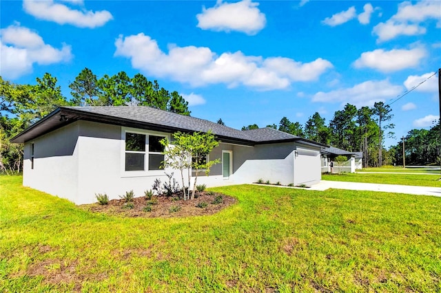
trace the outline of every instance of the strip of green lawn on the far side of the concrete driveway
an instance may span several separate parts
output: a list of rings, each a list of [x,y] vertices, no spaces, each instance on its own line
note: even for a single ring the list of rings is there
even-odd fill
[[[441,187],[439,180],[441,175],[426,174],[387,174],[387,173],[340,173],[322,174],[322,180],[344,181],[344,182],[364,182],[380,184],[399,184],[412,186]]]

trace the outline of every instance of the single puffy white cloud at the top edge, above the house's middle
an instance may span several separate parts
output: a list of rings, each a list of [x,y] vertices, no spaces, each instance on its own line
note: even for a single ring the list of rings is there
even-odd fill
[[[265,28],[267,22],[265,14],[257,8],[259,4],[251,0],[236,3],[223,3],[221,0],[213,8],[203,8],[203,12],[196,15],[198,28],[203,30],[225,31],[232,30],[257,34]]]

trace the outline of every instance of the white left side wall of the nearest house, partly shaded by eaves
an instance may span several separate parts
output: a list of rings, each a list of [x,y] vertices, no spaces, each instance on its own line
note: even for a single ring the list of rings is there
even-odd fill
[[[23,156],[23,186],[76,202],[79,170],[79,123],[26,142]],[[34,143],[34,169],[30,148]]]

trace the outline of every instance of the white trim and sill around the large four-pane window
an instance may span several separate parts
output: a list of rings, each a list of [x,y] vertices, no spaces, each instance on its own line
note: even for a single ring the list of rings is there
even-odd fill
[[[125,133],[138,133],[145,135],[145,151],[126,151],[125,150]],[[170,140],[170,133],[150,131],[132,127],[121,127],[121,177],[147,177],[147,176],[165,176],[165,169],[160,170],[148,170],[149,167],[149,154],[161,154],[158,152],[149,152],[149,135],[162,136]],[[144,170],[143,171],[125,171],[125,153],[143,153],[144,157]]]

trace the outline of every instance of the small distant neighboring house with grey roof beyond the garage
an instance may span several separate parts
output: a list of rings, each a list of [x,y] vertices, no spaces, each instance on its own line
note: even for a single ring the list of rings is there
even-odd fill
[[[354,173],[356,169],[362,169],[362,152],[350,152],[345,151],[344,149],[338,149],[334,146],[328,146],[325,149],[322,149],[322,173],[330,173],[331,166],[330,162],[334,162],[334,173],[338,172],[347,172]],[[336,157],[338,155],[345,155],[347,161],[342,164],[342,166],[338,166],[336,163]]]

